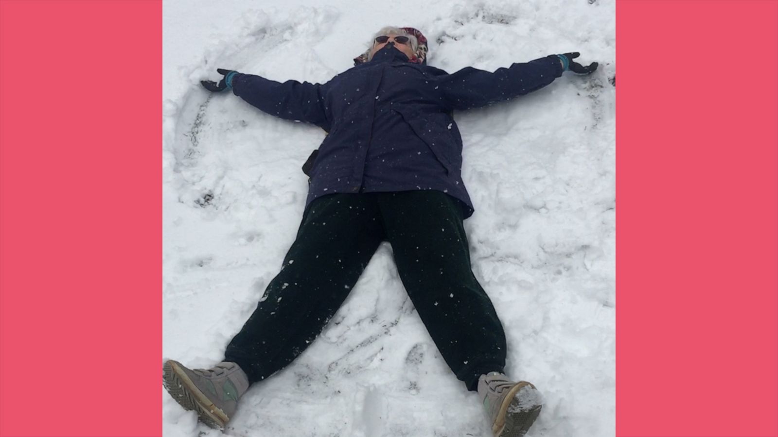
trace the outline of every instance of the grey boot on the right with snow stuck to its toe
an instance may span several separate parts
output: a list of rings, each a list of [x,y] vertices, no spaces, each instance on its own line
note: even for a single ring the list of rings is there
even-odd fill
[[[527,381],[514,383],[499,372],[478,379],[478,397],[492,422],[495,437],[520,437],[527,433],[542,407],[538,390]]]

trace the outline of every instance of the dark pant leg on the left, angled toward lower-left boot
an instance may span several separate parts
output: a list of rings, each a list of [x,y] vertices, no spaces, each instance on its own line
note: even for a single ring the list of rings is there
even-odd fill
[[[270,282],[225,361],[255,383],[292,362],[342,305],[384,239],[372,194],[332,194],[311,203],[280,273]]]

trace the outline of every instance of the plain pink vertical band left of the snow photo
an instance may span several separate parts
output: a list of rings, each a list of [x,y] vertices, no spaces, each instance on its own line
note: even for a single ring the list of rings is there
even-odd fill
[[[0,0],[0,435],[162,430],[162,2]]]

